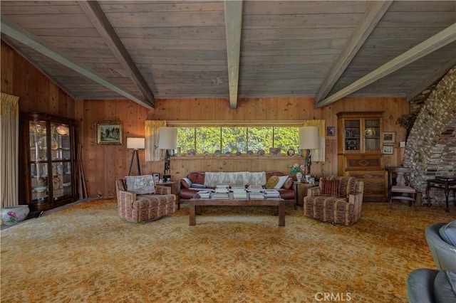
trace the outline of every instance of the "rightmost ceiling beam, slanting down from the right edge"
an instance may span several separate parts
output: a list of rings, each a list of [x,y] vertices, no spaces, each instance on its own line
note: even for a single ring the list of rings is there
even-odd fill
[[[374,83],[376,80],[381,79],[390,73],[399,70],[400,68],[403,68],[405,65],[408,65],[415,60],[423,58],[425,55],[428,55],[434,50],[442,48],[443,46],[446,46],[448,43],[452,43],[453,41],[456,41],[456,23],[453,23],[451,26],[448,26],[444,30],[426,39],[417,46],[410,48],[410,50],[407,50],[405,53],[398,55],[393,60],[390,60],[387,63],[381,65],[379,68],[373,70],[371,73],[368,73],[363,78],[356,80],[351,85],[348,85],[338,92],[335,92],[325,100],[318,102],[316,104],[316,107],[320,108],[341,100],[341,98],[350,95],[352,92],[361,90],[361,88]]]

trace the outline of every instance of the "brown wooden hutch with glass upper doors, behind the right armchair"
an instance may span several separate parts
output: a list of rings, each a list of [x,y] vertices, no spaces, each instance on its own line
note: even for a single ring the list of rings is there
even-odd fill
[[[364,181],[363,201],[387,201],[388,174],[383,165],[383,112],[337,114],[338,174]]]

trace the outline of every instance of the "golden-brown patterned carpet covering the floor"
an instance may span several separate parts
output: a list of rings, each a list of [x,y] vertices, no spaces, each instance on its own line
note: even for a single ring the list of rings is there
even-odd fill
[[[435,268],[427,225],[456,208],[364,203],[351,227],[286,207],[188,207],[135,224],[97,199],[1,230],[1,302],[407,302],[405,280]]]

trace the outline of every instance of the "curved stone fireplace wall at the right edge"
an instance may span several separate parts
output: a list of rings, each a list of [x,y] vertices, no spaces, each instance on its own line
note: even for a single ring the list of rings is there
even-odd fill
[[[403,165],[415,169],[413,183],[423,193],[424,203],[427,179],[456,177],[456,66],[440,80],[421,107],[407,139]],[[430,198],[434,205],[445,204],[445,193],[440,189],[431,188]]]

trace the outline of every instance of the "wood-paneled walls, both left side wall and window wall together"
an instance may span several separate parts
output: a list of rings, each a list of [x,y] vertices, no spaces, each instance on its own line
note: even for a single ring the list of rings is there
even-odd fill
[[[347,97],[332,105],[316,109],[313,97],[241,98],[236,110],[227,99],[199,98],[157,100],[155,110],[147,110],[130,100],[73,100],[55,83],[48,80],[31,63],[1,42],[1,91],[18,95],[21,112],[45,112],[76,119],[78,140],[83,144],[83,166],[89,196],[115,196],[115,179],[128,174],[132,151],[127,137],[143,137],[146,119],[165,120],[304,120],[325,119],[326,126],[336,126],[337,112],[383,111],[383,130],[396,132],[396,145],[405,139],[405,129],[395,124],[407,114],[409,104],[403,98]],[[98,145],[96,124],[106,120],[123,122],[123,145]],[[163,173],[163,162],[145,162],[140,151],[142,174]],[[385,156],[385,165],[398,165],[400,149]],[[171,174],[178,180],[190,171],[272,171],[288,173],[289,165],[304,163],[294,157],[268,156],[182,156],[173,157]],[[135,167],[133,167],[135,173]],[[336,137],[326,139],[326,161],[312,164],[317,176],[337,174]]]

